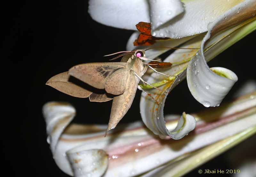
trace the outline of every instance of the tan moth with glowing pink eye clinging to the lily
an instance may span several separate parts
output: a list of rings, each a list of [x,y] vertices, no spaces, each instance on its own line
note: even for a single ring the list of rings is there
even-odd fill
[[[71,96],[89,97],[90,101],[93,102],[105,102],[113,99],[108,128],[105,133],[106,136],[107,132],[114,129],[130,109],[137,88],[147,93],[138,85],[139,81],[156,88],[141,78],[148,67],[153,69],[156,73],[163,74],[153,68],[160,66],[156,63],[158,60],[151,60],[153,62],[149,64],[144,62],[150,60],[146,58],[145,51],[125,51],[126,53],[118,56],[123,56],[121,62],[85,63],[76,65],[71,67],[68,72],[53,76],[47,81],[46,85],[50,85]],[[168,74],[164,75],[172,76]],[[70,76],[89,84],[98,91],[94,91],[91,88],[83,88],[70,82]],[[156,89],[167,92],[160,88]],[[99,92],[99,90],[101,91]],[[150,96],[150,94],[148,95]],[[150,97],[153,98],[152,96]],[[156,100],[154,99],[154,101]]]

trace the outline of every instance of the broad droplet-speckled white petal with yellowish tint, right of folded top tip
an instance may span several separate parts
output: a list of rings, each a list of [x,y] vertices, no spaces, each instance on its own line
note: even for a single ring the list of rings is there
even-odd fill
[[[183,38],[207,31],[207,25],[216,20],[223,12],[241,3],[239,1],[222,0],[188,0],[184,3],[184,12],[168,23],[151,30],[152,36]]]

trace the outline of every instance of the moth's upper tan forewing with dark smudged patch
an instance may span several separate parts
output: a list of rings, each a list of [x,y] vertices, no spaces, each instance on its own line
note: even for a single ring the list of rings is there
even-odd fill
[[[68,74],[99,89],[103,89],[108,77],[125,68],[125,62],[85,63],[69,69]]]

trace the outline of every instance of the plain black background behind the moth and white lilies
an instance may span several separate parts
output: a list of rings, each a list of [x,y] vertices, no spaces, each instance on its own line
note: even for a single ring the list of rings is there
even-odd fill
[[[5,32],[2,37],[1,119],[4,163],[11,176],[68,176],[52,159],[46,142],[42,106],[49,101],[73,104],[77,116],[73,122],[107,124],[111,104],[89,102],[89,99],[65,95],[45,83],[52,76],[68,71],[74,65],[106,62],[103,55],[126,50],[133,31],[101,25],[92,20],[87,1],[19,1],[3,5]],[[227,95],[230,100],[247,79],[255,79],[255,32],[228,48],[208,64],[234,71],[239,80]],[[186,101],[184,102],[184,99]],[[131,109],[120,123],[140,120],[140,91]],[[224,102],[223,101],[223,102]],[[186,81],[176,87],[165,105],[165,113],[181,114],[205,109],[191,96]],[[166,108],[166,107],[165,107]],[[226,169],[221,155],[201,169]],[[210,168],[210,169],[212,169]],[[199,168],[200,169],[200,168]],[[198,175],[198,170],[190,174]],[[13,175],[12,175],[13,174]]]

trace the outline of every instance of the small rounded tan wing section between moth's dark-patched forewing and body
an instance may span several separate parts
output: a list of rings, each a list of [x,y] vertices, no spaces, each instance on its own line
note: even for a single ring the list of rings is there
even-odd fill
[[[129,74],[130,70],[126,68],[119,69],[111,74],[105,83],[106,92],[113,95],[123,94]]]

